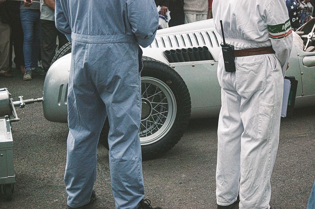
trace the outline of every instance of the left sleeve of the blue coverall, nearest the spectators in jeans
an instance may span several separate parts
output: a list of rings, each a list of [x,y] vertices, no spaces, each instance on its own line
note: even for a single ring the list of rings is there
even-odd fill
[[[65,15],[66,10],[64,5],[62,5],[61,0],[56,0],[55,7],[55,25],[56,28],[63,34],[66,35],[68,41],[71,42],[71,27],[69,24],[69,19]]]

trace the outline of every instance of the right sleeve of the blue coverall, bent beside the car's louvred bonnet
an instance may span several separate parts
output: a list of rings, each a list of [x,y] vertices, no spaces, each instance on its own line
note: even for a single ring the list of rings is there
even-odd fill
[[[128,19],[137,43],[149,46],[157,32],[158,13],[153,0],[127,0]]]

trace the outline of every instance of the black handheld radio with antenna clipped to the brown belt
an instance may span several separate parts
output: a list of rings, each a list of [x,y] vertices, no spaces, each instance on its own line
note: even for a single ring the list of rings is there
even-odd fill
[[[235,72],[235,62],[234,62],[234,46],[227,44],[225,42],[225,38],[224,38],[224,31],[223,31],[223,25],[222,25],[222,20],[220,20],[221,23],[221,31],[222,31],[222,38],[223,38],[223,42],[220,44],[222,47],[222,54],[223,54],[223,60],[224,60],[224,67],[225,67],[225,71],[226,72]]]

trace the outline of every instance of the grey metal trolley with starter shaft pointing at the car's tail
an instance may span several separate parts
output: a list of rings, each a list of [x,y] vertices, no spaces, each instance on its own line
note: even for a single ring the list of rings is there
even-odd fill
[[[15,189],[11,123],[20,120],[15,107],[23,108],[26,104],[43,102],[43,97],[27,100],[24,100],[23,96],[19,98],[19,101],[13,102],[8,89],[0,89],[0,193],[4,194],[7,200],[12,199]]]

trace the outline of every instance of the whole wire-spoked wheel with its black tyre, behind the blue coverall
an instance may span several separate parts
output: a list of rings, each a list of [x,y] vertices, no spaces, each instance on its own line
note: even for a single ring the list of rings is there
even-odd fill
[[[180,75],[165,63],[142,57],[141,123],[139,136],[142,159],[157,158],[174,147],[188,127],[191,100]],[[108,146],[108,118],[100,143]]]

